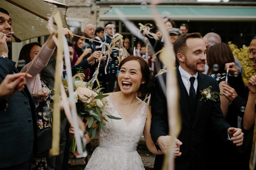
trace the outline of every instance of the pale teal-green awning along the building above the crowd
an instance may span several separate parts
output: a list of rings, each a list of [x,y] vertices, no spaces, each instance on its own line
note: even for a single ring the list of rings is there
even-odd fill
[[[110,6],[100,10],[100,20],[120,20],[120,12],[127,20],[153,20],[152,6]],[[256,21],[256,7],[236,6],[156,6],[158,13],[180,21]]]

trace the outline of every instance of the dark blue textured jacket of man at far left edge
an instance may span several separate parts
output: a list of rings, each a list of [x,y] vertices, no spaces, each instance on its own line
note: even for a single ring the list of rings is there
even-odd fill
[[[18,73],[15,62],[0,57],[0,83],[13,72]],[[7,98],[7,103],[7,109],[0,110],[0,168],[28,161],[37,146],[35,102],[27,86]]]

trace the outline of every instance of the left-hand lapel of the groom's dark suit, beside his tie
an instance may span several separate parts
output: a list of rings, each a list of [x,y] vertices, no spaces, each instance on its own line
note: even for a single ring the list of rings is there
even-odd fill
[[[184,114],[187,118],[187,121],[189,122],[189,125],[192,126],[192,123],[191,123],[191,120],[190,120],[190,115],[189,115],[189,108],[188,108],[188,105],[187,105],[186,91],[183,88],[184,84],[183,84],[182,79],[181,79],[181,73],[180,73],[178,67],[176,67],[176,70],[177,70],[177,77],[178,77],[178,85],[179,85],[179,89],[180,89],[181,111],[184,112]]]

